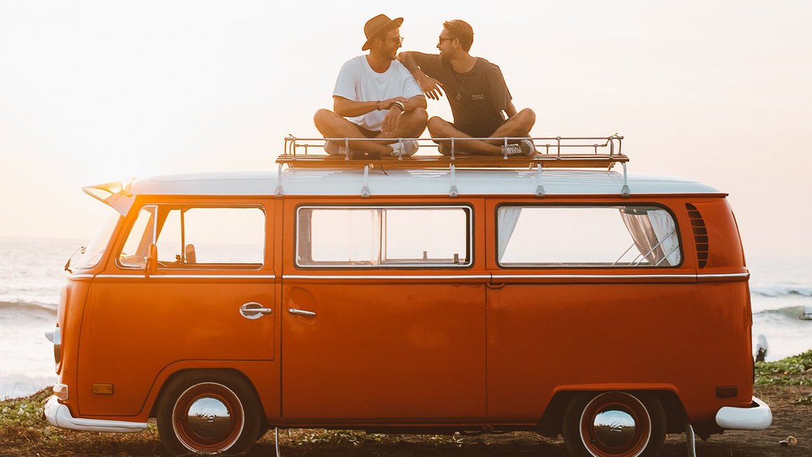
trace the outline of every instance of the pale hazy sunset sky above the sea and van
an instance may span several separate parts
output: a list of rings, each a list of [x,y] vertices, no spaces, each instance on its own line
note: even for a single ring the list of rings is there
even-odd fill
[[[748,254],[812,256],[807,0],[0,0],[0,236],[91,238],[110,209],[84,185],[275,170],[380,13],[402,50],[468,21],[533,136],[619,132],[630,172],[728,192]]]

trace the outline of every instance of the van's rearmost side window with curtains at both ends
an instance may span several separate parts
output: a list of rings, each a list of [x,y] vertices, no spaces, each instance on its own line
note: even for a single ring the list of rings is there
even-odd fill
[[[670,267],[682,261],[671,213],[654,206],[501,206],[499,265]]]

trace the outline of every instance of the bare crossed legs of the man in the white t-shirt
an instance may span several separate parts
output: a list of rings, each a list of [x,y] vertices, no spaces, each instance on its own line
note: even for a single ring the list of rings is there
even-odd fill
[[[391,133],[384,134],[381,131],[374,136],[368,136],[355,123],[351,123],[339,114],[330,110],[318,110],[313,116],[316,128],[325,138],[417,138],[425,130],[428,114],[422,108],[415,108],[400,116],[398,128]],[[390,153],[391,147],[388,144],[393,140],[371,140],[371,141],[349,141],[351,149],[356,151],[369,151],[378,153]]]

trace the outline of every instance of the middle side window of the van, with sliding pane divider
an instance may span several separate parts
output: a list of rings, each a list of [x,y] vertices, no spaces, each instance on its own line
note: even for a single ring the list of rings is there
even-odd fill
[[[296,265],[471,265],[468,207],[301,207]]]

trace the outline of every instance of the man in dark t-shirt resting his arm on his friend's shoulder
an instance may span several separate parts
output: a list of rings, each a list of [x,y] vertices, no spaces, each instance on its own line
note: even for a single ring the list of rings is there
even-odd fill
[[[451,104],[454,123],[436,116],[429,119],[431,136],[486,139],[455,140],[455,153],[535,153],[532,140],[504,145],[505,136],[529,136],[536,114],[529,108],[516,111],[502,71],[484,58],[469,54],[472,44],[473,28],[467,22],[455,19],[443,23],[437,44],[440,54],[414,51],[398,54],[398,60],[412,72],[425,95],[439,100],[444,90]],[[507,114],[507,119],[503,113]],[[437,142],[440,153],[451,153],[451,141]]]

